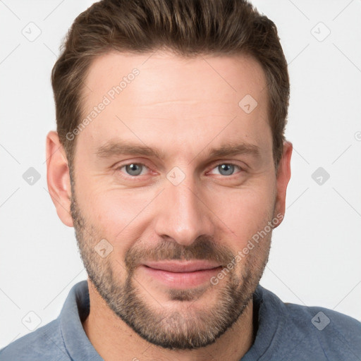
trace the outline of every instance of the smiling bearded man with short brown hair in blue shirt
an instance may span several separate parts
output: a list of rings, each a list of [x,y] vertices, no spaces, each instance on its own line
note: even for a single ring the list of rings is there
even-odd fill
[[[259,285],[285,212],[289,81],[242,0],[104,0],[53,69],[56,211],[88,280],[0,360],[361,360],[361,324]]]

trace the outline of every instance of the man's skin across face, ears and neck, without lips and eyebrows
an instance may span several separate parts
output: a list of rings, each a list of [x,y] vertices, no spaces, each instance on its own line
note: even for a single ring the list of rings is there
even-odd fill
[[[254,59],[149,55],[111,52],[92,63],[84,114],[133,68],[140,74],[77,135],[73,183],[57,133],[47,135],[49,192],[61,221],[75,228],[90,276],[83,327],[107,361],[240,360],[255,340],[252,294],[267,263],[271,231],[216,286],[207,281],[173,289],[140,264],[219,259],[225,267],[252,235],[284,214],[292,144],[284,143],[276,172],[266,78]],[[257,100],[250,114],[238,105],[246,94]],[[111,140],[163,154],[97,157]],[[259,154],[209,158],[209,149],[225,142],[257,146]],[[126,164],[145,167],[132,176]],[[221,164],[234,164],[233,173],[225,175]],[[167,178],[174,167],[185,176],[178,185]],[[94,251],[102,239],[113,247],[104,258]],[[135,297],[133,309],[127,295]],[[186,347],[187,333],[207,341],[195,337]]]

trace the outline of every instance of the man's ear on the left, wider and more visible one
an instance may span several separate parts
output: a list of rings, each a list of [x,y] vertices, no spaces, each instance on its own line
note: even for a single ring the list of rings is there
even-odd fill
[[[55,131],[51,131],[47,135],[47,183],[56,213],[63,224],[73,227],[68,161],[58,133]]]

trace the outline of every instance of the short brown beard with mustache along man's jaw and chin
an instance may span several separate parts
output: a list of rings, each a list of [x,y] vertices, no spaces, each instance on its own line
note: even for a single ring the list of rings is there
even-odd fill
[[[122,266],[117,259],[102,258],[95,252],[94,245],[103,237],[97,227],[87,224],[74,195],[71,198],[71,216],[80,257],[94,288],[133,331],[162,348],[192,350],[214,343],[243,314],[268,261],[271,233],[240,260],[243,262],[240,275],[236,274],[240,267],[233,267],[216,286],[209,282],[209,285],[197,288],[169,288],[166,291],[168,299],[175,302],[171,307],[164,307],[145,292],[134,276],[141,260],[204,259],[226,267],[235,257],[233,252],[205,236],[188,246],[165,239],[152,248],[136,242],[127,250],[125,266]],[[119,266],[121,271],[115,271]],[[125,281],[118,277],[121,274],[126,275]],[[202,295],[209,292],[216,295],[211,304],[207,304],[207,297],[204,297],[202,307],[197,305],[197,300],[202,301]],[[154,305],[145,296],[149,296]]]

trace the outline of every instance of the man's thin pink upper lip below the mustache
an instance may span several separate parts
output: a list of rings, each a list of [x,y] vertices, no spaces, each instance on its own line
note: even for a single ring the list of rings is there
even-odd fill
[[[162,271],[170,272],[193,272],[221,267],[220,264],[205,260],[144,262],[143,264],[152,269],[161,269]]]

